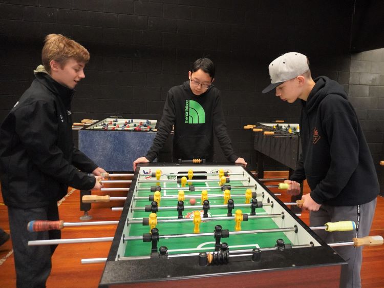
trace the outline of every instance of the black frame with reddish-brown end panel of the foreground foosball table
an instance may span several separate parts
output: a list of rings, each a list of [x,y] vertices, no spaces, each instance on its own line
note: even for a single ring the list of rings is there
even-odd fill
[[[228,163],[208,163],[206,166],[229,166]],[[176,166],[174,163],[148,163],[141,166]],[[180,166],[180,165],[177,165]],[[183,166],[183,164],[181,164]],[[200,166],[196,166],[197,168]],[[137,169],[139,171],[139,169]],[[245,169],[261,186],[269,191],[252,173]],[[134,175],[131,189],[136,187],[138,173]],[[99,287],[180,287],[225,285],[230,287],[276,287],[294,286],[338,287],[340,274],[347,269],[344,261],[334,250],[319,238],[307,225],[288,208],[286,213],[296,217],[301,225],[321,246],[286,249],[284,251],[263,251],[258,261],[248,257],[230,258],[229,263],[207,266],[199,265],[199,256],[155,257],[134,261],[118,261],[117,253],[126,225],[133,191],[128,193],[124,209],[106,260]],[[283,202],[273,193],[273,201]],[[123,256],[123,255],[122,255]]]

